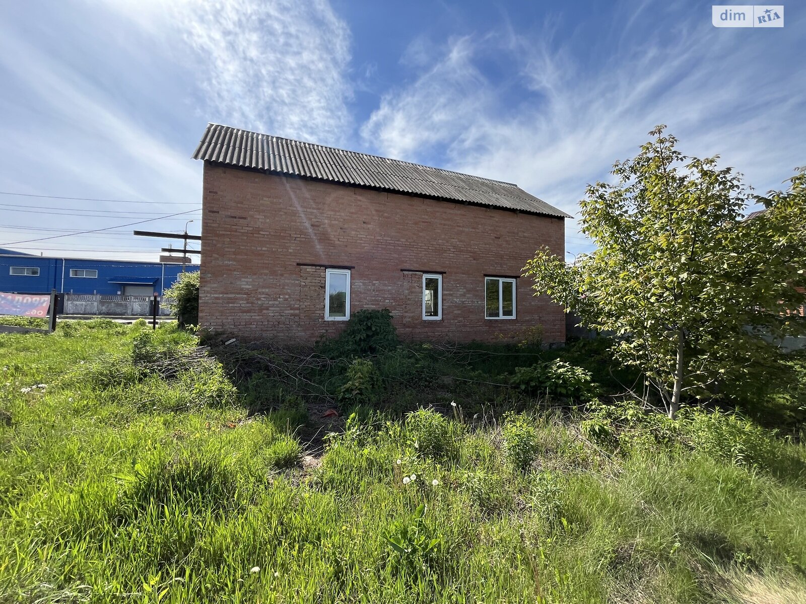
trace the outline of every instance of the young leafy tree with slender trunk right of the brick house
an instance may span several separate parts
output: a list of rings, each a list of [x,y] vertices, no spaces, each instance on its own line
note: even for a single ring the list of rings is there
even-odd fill
[[[567,265],[538,250],[524,270],[537,294],[615,333],[614,354],[645,372],[674,418],[683,393],[751,379],[778,338],[806,333],[790,316],[806,286],[806,171],[787,192],[752,197],[664,128],[614,165],[616,184],[588,186],[580,224],[596,251]],[[745,220],[752,199],[767,211]]]

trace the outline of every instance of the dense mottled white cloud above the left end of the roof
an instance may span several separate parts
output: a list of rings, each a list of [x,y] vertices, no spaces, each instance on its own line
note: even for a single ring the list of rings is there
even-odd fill
[[[208,121],[329,144],[350,133],[350,31],[326,0],[110,6],[142,27],[179,34],[193,52],[173,46],[193,66]]]

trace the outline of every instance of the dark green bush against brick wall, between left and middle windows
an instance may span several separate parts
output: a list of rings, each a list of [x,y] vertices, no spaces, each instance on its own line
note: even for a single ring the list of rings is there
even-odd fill
[[[365,357],[394,350],[399,344],[389,309],[364,308],[352,313],[338,336],[318,341],[317,350],[327,358]]]

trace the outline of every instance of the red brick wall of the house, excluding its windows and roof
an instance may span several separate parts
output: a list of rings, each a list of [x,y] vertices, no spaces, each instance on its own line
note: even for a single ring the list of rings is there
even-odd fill
[[[310,343],[325,321],[325,269],[351,271],[351,312],[389,308],[401,337],[517,338],[542,325],[565,340],[563,310],[517,279],[517,319],[484,319],[484,275],[520,275],[538,247],[564,254],[563,220],[266,175],[204,169],[199,322],[243,339]],[[442,320],[422,320],[422,274],[442,276]]]

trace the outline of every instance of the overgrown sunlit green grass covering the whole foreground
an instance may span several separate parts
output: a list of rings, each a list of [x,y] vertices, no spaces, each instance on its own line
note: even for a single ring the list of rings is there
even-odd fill
[[[189,334],[87,323],[0,335],[0,602],[806,600],[806,449],[762,428],[468,394],[303,467],[299,399],[247,416]]]

